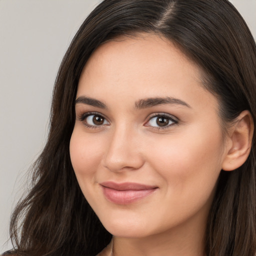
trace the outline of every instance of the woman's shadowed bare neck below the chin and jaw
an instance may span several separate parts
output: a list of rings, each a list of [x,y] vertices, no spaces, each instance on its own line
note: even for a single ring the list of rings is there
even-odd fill
[[[191,220],[191,219],[190,219]],[[205,224],[187,221],[147,237],[113,236],[113,256],[204,256]],[[198,222],[197,222],[198,224]]]

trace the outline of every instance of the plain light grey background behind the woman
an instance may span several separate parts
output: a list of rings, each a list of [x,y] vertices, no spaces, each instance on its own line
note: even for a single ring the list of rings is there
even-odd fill
[[[47,135],[52,86],[81,22],[100,0],[0,0],[0,252]],[[256,38],[256,0],[231,0]]]

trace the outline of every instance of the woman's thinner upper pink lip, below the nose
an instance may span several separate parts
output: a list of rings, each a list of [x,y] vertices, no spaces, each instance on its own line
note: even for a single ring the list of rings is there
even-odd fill
[[[146,185],[134,182],[115,183],[113,181],[105,181],[101,182],[100,185],[115,190],[143,190],[157,188],[157,186],[154,185]]]

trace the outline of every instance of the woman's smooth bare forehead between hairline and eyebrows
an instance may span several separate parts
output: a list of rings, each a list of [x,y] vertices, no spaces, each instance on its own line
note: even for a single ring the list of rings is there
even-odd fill
[[[198,98],[216,98],[201,81],[200,68],[169,40],[154,34],[122,36],[100,45],[85,64],[77,96],[181,97],[201,106]]]

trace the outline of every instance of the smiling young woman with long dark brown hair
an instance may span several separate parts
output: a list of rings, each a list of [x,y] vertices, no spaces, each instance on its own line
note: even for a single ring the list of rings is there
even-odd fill
[[[14,255],[254,255],[255,66],[227,0],[101,2],[62,60]]]

